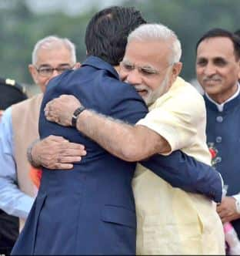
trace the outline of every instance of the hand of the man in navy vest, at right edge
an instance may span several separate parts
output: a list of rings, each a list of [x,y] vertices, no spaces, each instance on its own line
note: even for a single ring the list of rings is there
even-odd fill
[[[222,203],[217,206],[218,215],[221,217],[222,223],[236,220],[240,217],[235,207],[234,197],[224,197]]]

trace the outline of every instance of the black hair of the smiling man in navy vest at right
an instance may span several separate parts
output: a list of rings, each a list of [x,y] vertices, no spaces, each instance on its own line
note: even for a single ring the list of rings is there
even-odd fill
[[[225,37],[232,41],[235,58],[236,60],[240,59],[240,38],[235,33],[232,33],[226,29],[210,29],[208,32],[205,32],[204,35],[198,40],[196,44],[196,51],[198,50],[198,45],[206,40],[206,39],[213,39],[216,37]]]

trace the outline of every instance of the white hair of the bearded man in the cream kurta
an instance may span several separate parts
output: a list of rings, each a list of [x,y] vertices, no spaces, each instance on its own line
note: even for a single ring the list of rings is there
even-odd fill
[[[172,44],[172,55],[169,64],[179,62],[182,56],[181,42],[178,36],[167,26],[162,24],[143,24],[128,35],[128,43],[131,41],[163,40]],[[157,53],[157,52],[156,52]]]

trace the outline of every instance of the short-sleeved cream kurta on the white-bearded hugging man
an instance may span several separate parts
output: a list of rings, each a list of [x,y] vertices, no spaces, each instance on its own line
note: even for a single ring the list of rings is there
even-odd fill
[[[180,149],[210,164],[205,103],[192,85],[178,78],[149,110],[138,124],[165,137],[172,151]],[[132,186],[137,254],[225,254],[222,222],[212,200],[173,188],[140,164]]]

